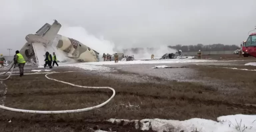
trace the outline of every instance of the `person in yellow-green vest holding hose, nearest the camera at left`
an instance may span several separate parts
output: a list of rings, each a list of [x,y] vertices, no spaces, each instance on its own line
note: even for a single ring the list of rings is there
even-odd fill
[[[19,51],[15,52],[16,55],[14,56],[14,68],[15,65],[18,64],[19,69],[20,69],[20,77],[23,76],[23,71],[24,71],[24,66],[25,66],[25,59],[23,58],[23,56],[20,54]]]

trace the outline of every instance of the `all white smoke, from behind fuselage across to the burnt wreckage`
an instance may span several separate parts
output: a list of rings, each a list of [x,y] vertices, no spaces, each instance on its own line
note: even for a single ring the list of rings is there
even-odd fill
[[[103,53],[114,54],[117,51],[119,51],[119,53],[120,51],[123,51],[122,46],[118,45],[118,50],[116,51],[114,50],[116,49],[116,47],[113,42],[104,40],[103,37],[97,38],[96,36],[89,34],[83,27],[80,27],[80,26],[78,27],[62,26],[59,31],[59,34],[69,38],[73,38],[81,42],[82,44],[90,47],[91,49],[99,52],[100,61],[103,60],[102,59]],[[137,48],[137,47],[130,47],[130,48]],[[176,52],[176,50],[168,48],[167,45],[156,45],[151,48],[153,49],[148,50],[148,48],[143,48],[136,53],[128,49],[125,51],[125,55],[128,55],[128,56],[134,55],[134,58],[136,60],[140,60],[140,59],[150,59],[152,54],[155,55],[155,58],[161,58],[166,53]]]

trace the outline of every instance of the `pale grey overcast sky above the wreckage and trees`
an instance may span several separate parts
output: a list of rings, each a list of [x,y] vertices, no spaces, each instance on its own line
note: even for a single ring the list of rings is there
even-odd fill
[[[256,0],[2,0],[0,52],[56,19],[116,47],[236,44],[256,26]],[[68,36],[67,36],[68,37]]]

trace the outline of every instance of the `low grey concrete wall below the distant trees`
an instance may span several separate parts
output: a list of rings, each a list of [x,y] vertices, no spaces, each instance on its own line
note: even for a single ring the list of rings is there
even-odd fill
[[[202,55],[230,55],[234,51],[201,51]],[[195,56],[197,52],[183,52],[183,55]]]

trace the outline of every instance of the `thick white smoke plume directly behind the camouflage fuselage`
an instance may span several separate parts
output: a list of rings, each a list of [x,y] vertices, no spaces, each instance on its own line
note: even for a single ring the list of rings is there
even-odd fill
[[[103,37],[97,38],[94,35],[89,34],[83,27],[64,27],[62,26],[59,33],[60,35],[75,39],[82,44],[90,47],[91,49],[97,51],[99,54],[100,61],[102,61],[103,53],[114,54],[113,50],[115,44],[104,40]]]

